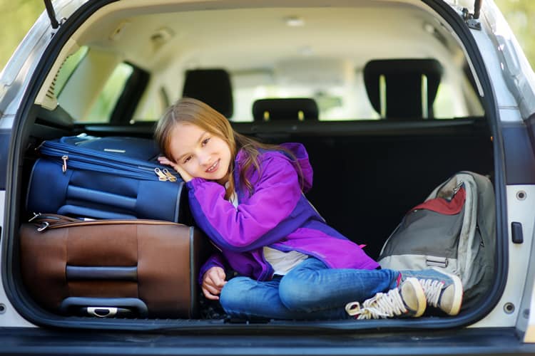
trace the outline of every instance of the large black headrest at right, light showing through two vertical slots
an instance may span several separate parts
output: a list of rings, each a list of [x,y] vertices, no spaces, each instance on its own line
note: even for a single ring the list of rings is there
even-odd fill
[[[442,72],[439,61],[430,58],[370,61],[364,68],[368,98],[374,110],[386,118],[432,118]],[[386,87],[383,100],[381,76]]]

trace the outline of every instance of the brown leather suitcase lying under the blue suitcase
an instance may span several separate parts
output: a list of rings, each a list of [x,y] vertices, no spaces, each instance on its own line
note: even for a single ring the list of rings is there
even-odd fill
[[[99,317],[198,316],[197,277],[210,244],[193,226],[49,214],[23,224],[20,237],[24,284],[48,310]]]

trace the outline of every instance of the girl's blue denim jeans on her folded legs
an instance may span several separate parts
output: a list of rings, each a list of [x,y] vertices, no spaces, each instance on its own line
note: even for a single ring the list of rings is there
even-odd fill
[[[389,269],[332,269],[309,257],[271,281],[235,277],[221,290],[220,303],[233,318],[346,319],[345,305],[397,286]]]

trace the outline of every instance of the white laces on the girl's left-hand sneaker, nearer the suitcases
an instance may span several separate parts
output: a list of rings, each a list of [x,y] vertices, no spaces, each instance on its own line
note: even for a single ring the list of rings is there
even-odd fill
[[[407,313],[407,308],[399,295],[399,288],[395,288],[388,293],[377,293],[365,300],[362,307],[359,302],[347,303],[345,311],[352,316],[358,315],[357,319],[379,319],[402,315]]]

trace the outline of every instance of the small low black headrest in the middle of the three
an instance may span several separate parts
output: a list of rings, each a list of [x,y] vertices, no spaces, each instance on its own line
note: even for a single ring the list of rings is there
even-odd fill
[[[310,98],[259,99],[253,103],[253,118],[255,121],[317,120],[318,108]]]

